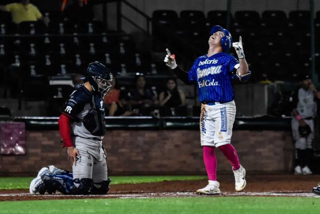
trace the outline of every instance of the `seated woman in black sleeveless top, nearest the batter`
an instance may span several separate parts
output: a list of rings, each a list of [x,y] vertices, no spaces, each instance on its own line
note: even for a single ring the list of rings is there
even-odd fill
[[[186,114],[186,96],[183,91],[178,90],[176,79],[169,78],[167,80],[166,90],[161,92],[159,96],[159,104],[164,107],[165,112],[169,112],[169,114],[165,113],[166,116],[175,116],[177,113],[179,114],[179,112],[176,111],[178,110],[178,107],[182,107],[180,111],[183,111],[184,109],[184,113]]]

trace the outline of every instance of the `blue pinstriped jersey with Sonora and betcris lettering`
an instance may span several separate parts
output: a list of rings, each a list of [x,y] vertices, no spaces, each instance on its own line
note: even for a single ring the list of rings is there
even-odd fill
[[[239,61],[224,52],[198,57],[188,76],[190,82],[197,84],[199,101],[227,103],[234,100],[231,79],[232,76],[237,77],[235,74],[239,67]]]

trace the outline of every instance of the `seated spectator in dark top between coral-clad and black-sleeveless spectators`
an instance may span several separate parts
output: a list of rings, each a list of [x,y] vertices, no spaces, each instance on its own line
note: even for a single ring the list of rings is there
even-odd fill
[[[131,101],[129,102],[133,110],[139,109],[139,114],[149,116],[153,110],[153,105],[157,101],[156,96],[146,88],[146,79],[143,75],[136,75],[134,78],[134,88],[130,91]]]

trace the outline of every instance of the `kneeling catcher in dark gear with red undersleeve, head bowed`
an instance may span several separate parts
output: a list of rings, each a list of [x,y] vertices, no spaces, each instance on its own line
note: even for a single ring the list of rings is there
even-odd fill
[[[90,63],[86,82],[75,87],[59,118],[63,147],[68,148],[72,172],[54,166],[42,168],[31,181],[30,194],[106,194],[109,190],[105,135],[104,96],[112,82],[112,73],[100,62]],[[63,148],[62,147],[62,148]]]

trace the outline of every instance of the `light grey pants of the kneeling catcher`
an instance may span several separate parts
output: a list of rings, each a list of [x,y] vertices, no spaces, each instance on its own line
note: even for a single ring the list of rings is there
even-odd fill
[[[107,162],[102,149],[102,141],[73,137],[75,147],[81,157],[72,166],[73,179],[90,178],[93,183],[108,179]]]

